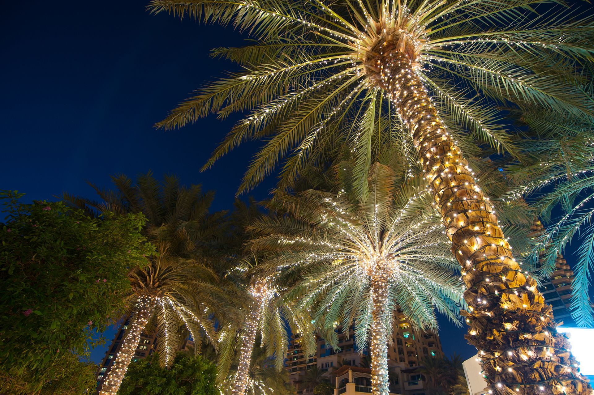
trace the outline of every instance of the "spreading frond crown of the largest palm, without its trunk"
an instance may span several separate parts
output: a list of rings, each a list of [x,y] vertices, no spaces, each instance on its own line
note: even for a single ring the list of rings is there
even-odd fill
[[[400,46],[466,155],[478,152],[476,142],[514,153],[486,98],[565,113],[592,110],[568,78],[575,59],[591,58],[592,18],[570,21],[565,11],[548,8],[539,14],[533,7],[543,2],[154,0],[153,12],[233,24],[258,42],[215,49],[243,71],[208,84],[157,125],[249,112],[206,164],[243,141],[266,138],[241,191],[263,180],[280,158],[281,185],[290,186],[307,161],[327,159],[336,142],[347,141],[364,189],[373,154],[410,142],[383,98],[387,71],[377,62]]]

